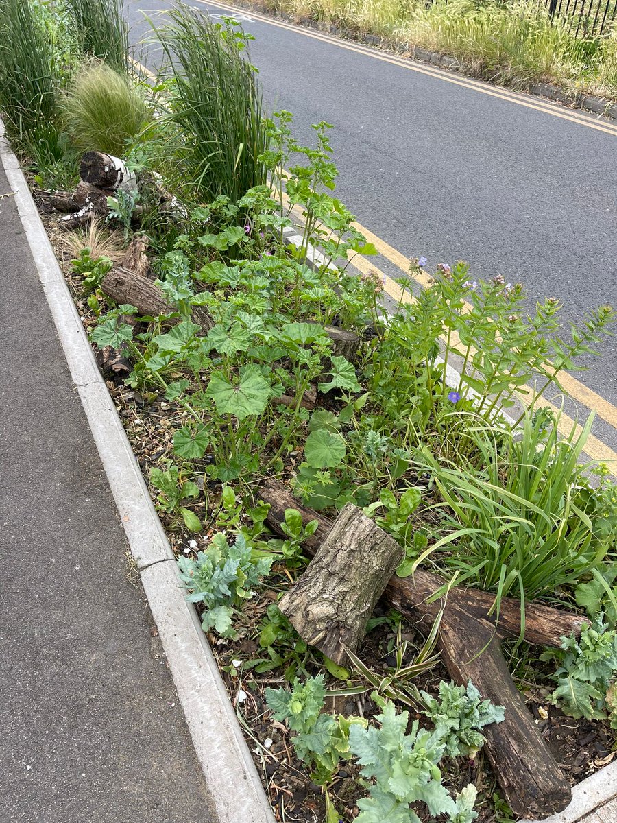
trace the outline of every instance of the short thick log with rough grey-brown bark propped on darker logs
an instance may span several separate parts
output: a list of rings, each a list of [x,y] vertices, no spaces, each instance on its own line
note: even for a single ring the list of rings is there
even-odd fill
[[[336,518],[307,570],[279,603],[300,637],[342,663],[405,552],[353,503]]]

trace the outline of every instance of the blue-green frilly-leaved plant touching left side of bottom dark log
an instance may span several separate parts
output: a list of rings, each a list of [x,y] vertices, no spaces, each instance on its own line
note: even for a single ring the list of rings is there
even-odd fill
[[[485,737],[480,732],[489,723],[501,723],[503,706],[496,706],[490,700],[481,700],[480,692],[471,680],[467,686],[455,686],[453,682],[439,683],[439,699],[426,691],[424,714],[434,723],[435,732],[445,741],[443,750],[448,757],[465,755],[473,759],[485,745]]]

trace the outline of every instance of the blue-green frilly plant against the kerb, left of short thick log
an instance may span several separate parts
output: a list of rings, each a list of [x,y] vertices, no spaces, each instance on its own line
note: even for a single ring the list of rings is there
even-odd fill
[[[237,638],[231,625],[234,608],[253,597],[253,586],[259,584],[272,565],[271,558],[253,560],[253,546],[243,534],[230,546],[224,534],[212,537],[206,551],[197,556],[180,556],[180,579],[192,603],[202,603],[202,629],[214,629],[221,637]]]

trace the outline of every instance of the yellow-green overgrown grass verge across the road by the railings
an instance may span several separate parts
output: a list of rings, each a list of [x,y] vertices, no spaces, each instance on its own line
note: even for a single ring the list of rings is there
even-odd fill
[[[530,0],[267,0],[296,18],[336,23],[449,54],[478,77],[526,87],[555,81],[617,97],[617,30],[575,37]]]

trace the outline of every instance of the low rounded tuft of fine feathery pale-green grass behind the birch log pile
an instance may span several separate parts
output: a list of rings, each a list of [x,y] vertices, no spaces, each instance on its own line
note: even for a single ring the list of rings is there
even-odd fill
[[[63,95],[67,133],[78,151],[126,156],[146,128],[149,110],[125,74],[105,63],[81,69]]]

